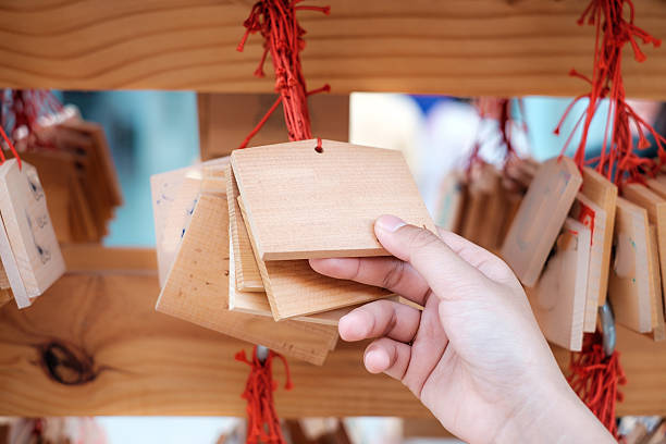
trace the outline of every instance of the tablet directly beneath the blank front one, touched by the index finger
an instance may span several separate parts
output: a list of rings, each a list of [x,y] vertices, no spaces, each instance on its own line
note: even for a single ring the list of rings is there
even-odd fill
[[[391,295],[383,288],[319,274],[305,259],[261,260],[255,247],[251,227],[247,223],[242,196],[238,197],[238,205],[261,272],[271,312],[276,321],[350,307]]]

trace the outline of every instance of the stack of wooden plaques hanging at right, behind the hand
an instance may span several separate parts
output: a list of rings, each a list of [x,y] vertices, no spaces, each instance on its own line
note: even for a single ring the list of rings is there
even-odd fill
[[[618,197],[604,176],[567,158],[509,165],[510,192],[496,186],[507,174],[479,171],[444,183],[442,201],[458,213],[441,220],[507,261],[548,341],[580,350],[606,296],[618,323],[666,338],[666,176],[628,184]],[[504,209],[489,199],[503,199]],[[495,236],[498,224],[508,230]]]

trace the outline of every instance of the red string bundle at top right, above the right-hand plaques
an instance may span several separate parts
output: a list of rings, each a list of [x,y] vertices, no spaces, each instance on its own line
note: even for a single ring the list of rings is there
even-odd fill
[[[629,18],[626,18],[626,15]],[[589,100],[585,111],[576,124],[571,135],[563,147],[563,153],[567,149],[572,134],[581,122],[582,137],[574,156],[580,168],[585,163],[597,162],[597,170],[609,181],[622,185],[627,181],[641,181],[642,174],[657,170],[656,163],[651,159],[641,158],[637,151],[650,147],[646,134],[655,139],[662,163],[666,162],[666,138],[643,119],[641,119],[626,101],[625,84],[622,79],[622,49],[629,44],[638,62],[645,61],[639,41],[644,45],[658,47],[661,40],[654,38],[645,30],[633,24],[636,11],[632,0],[591,0],[580,18],[579,25],[590,24],[596,27],[596,39],[594,44],[594,63],[592,77],[587,77],[576,70],[569,75],[579,77],[589,83],[591,90],[574,99],[565,111],[563,119],[555,128],[559,134],[562,124],[570,113],[574,104],[584,98]],[[585,146],[592,119],[601,102],[607,99],[609,104],[608,119],[601,155],[595,159],[585,161]],[[631,127],[639,135],[638,145],[634,144]]]

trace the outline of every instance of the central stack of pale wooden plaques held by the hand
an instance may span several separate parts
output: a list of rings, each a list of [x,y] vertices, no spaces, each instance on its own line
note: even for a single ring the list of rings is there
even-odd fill
[[[383,213],[434,230],[402,155],[316,147],[236,150],[231,166],[218,159],[151,178],[157,310],[321,365],[342,316],[392,297],[320,275],[308,259],[386,256],[373,234]]]

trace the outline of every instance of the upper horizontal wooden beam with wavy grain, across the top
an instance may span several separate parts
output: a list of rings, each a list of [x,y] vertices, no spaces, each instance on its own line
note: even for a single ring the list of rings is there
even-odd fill
[[[271,92],[252,73],[262,41],[236,46],[249,1],[0,0],[0,85],[61,89]],[[320,2],[324,4],[324,2]],[[637,24],[666,38],[666,3],[634,0]],[[301,11],[312,88],[419,94],[578,96],[588,85],[594,29],[579,0],[331,0]],[[666,98],[666,50],[624,63],[630,97]],[[270,63],[270,61],[269,61]]]

